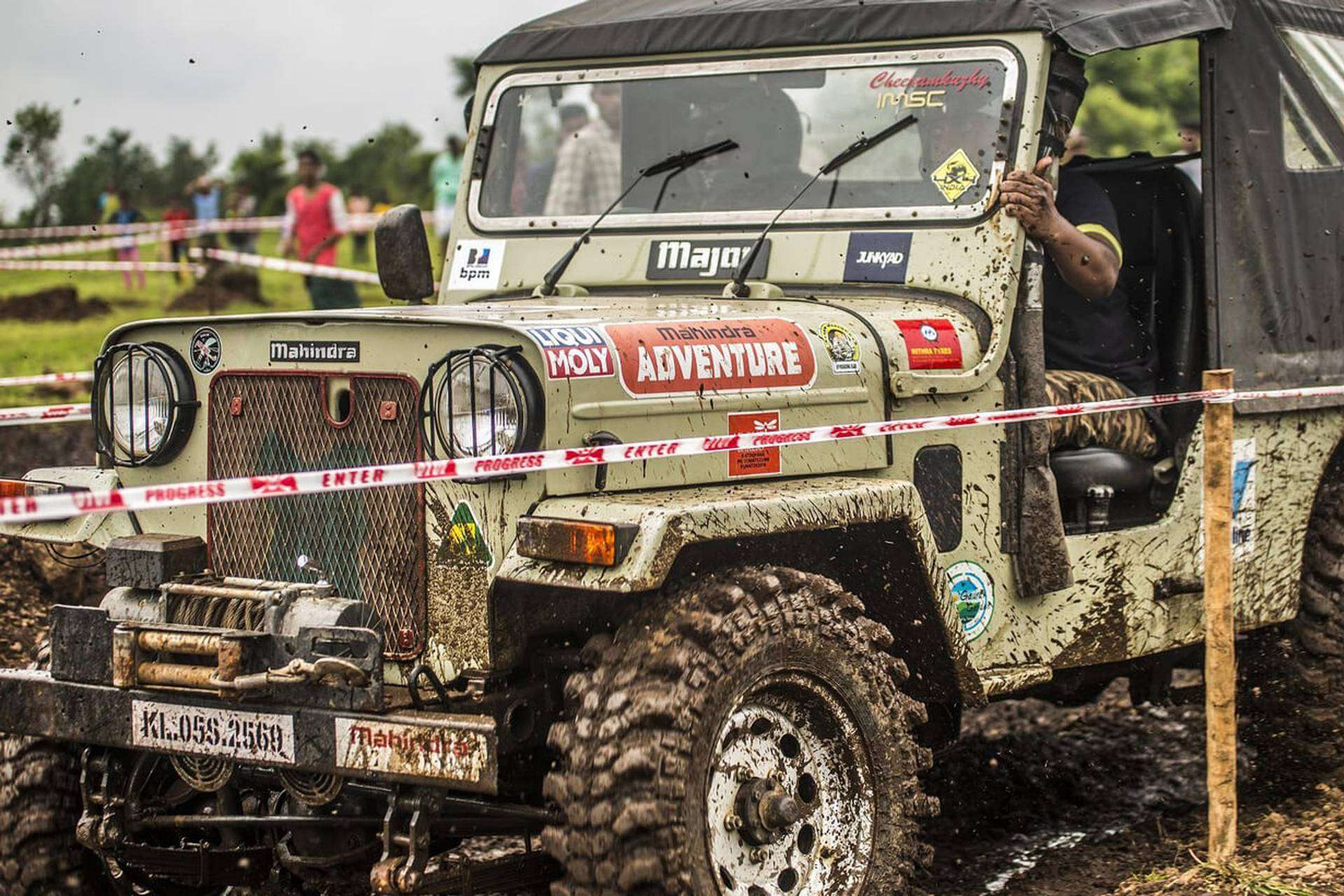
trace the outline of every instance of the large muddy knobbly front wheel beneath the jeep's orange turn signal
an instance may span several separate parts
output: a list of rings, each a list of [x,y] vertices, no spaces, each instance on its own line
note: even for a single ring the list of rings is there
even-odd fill
[[[927,713],[863,613],[829,579],[737,568],[594,637],[550,733],[552,895],[910,892]]]

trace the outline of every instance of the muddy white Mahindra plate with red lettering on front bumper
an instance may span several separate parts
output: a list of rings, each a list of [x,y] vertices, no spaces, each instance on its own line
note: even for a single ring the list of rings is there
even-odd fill
[[[478,783],[489,762],[489,740],[478,731],[336,719],[340,768]]]

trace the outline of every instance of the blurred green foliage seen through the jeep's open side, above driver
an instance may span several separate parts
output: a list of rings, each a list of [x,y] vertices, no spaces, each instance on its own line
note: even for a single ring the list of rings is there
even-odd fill
[[[1154,156],[1180,149],[1176,132],[1199,121],[1199,43],[1172,40],[1087,60],[1087,97],[1078,126],[1090,156]]]

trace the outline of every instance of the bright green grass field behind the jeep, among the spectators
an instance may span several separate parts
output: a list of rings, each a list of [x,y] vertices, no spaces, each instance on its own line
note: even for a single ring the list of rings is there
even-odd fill
[[[274,255],[280,235],[262,234],[258,251]],[[372,239],[370,239],[372,243]],[[141,246],[142,261],[159,261],[161,244]],[[108,259],[108,253],[70,255],[69,258]],[[351,258],[349,239],[341,240],[336,263],[341,267],[374,270],[372,261],[355,265]],[[168,312],[168,304],[191,283],[177,283],[172,274],[146,273],[145,289],[130,292],[122,285],[120,273],[66,273],[66,271],[0,271],[0,298],[23,296],[52,286],[71,283],[79,290],[79,298],[102,298],[112,305],[112,313],[87,317],[81,321],[24,322],[0,320],[0,376],[23,376],[30,373],[87,371],[102,347],[103,337],[116,326],[153,317],[191,316],[203,312]],[[376,286],[356,283],[360,300],[366,306],[390,305]],[[293,312],[310,308],[302,277],[281,271],[261,271],[261,293],[270,302],[269,308],[258,308],[239,302],[224,314],[247,314],[261,310]],[[0,407],[24,404],[50,404],[66,400],[86,400],[87,387],[82,391],[11,387],[0,388]]]

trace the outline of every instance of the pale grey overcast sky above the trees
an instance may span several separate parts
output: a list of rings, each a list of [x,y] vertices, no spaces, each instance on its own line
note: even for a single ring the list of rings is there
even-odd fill
[[[274,128],[344,148],[406,121],[438,144],[462,121],[448,56],[573,1],[0,0],[0,114],[60,109],[65,164],[109,128],[160,156],[215,141],[223,164]],[[27,204],[0,175],[5,215]]]

